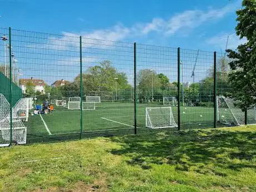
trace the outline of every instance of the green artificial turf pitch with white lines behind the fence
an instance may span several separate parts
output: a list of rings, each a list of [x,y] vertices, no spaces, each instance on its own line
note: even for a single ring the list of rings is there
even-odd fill
[[[145,128],[146,107],[163,107],[155,104],[137,105],[137,126]],[[177,106],[172,106],[174,119],[178,122]],[[83,132],[133,129],[134,106],[125,102],[96,103],[96,110],[83,111]],[[42,120],[43,119],[43,120]],[[45,121],[45,124],[44,122]],[[62,137],[80,132],[80,110],[55,107],[53,115],[29,115],[27,126],[28,140],[35,136]],[[212,107],[181,107],[181,128],[213,127]],[[46,128],[47,126],[47,128]],[[47,130],[48,129],[48,130]],[[85,134],[86,135],[86,134]],[[65,138],[66,139],[66,138]]]

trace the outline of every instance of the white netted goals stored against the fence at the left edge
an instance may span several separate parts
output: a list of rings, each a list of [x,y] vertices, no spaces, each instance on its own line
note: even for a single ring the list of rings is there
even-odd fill
[[[11,133],[10,104],[0,94],[0,146],[8,146]],[[12,142],[17,144],[26,144],[27,127],[25,127],[17,116],[16,112],[12,112]]]

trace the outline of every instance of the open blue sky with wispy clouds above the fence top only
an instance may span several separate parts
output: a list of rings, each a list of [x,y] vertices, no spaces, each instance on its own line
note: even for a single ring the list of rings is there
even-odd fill
[[[234,28],[240,1],[0,2],[1,27],[206,51],[224,49],[227,35],[231,48],[239,42]]]

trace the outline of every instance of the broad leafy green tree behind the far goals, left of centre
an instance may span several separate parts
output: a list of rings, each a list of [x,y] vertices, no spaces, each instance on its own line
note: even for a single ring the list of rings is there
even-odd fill
[[[131,97],[131,85],[129,85],[126,74],[118,72],[111,65],[110,61],[102,61],[100,65],[90,67],[85,73],[82,73],[82,85],[84,95],[101,96],[101,100],[113,100],[115,98],[116,88],[118,99],[124,99],[127,96]],[[63,91],[66,95],[67,92],[69,92],[68,94],[75,92],[77,95],[80,95],[79,90],[80,75],[76,76],[75,81],[70,83],[70,85],[63,86]],[[129,90],[125,94],[127,96],[123,95],[125,93],[124,90]],[[129,99],[127,98],[127,100]]]

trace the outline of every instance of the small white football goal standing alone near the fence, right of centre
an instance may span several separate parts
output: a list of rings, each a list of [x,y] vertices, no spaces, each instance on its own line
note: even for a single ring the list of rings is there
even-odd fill
[[[171,107],[146,107],[146,127],[160,129],[177,126]]]

